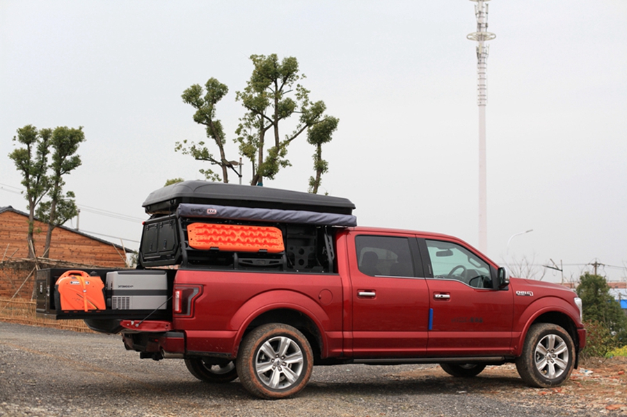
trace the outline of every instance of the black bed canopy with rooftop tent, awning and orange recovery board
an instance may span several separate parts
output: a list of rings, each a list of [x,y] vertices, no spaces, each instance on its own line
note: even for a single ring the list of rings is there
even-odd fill
[[[333,227],[357,224],[349,199],[207,181],[161,188],[143,206],[151,218],[139,263],[148,267],[333,272]]]

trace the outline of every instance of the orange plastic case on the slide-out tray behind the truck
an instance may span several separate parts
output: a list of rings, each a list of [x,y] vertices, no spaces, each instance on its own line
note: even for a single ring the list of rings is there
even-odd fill
[[[63,311],[106,309],[102,292],[104,284],[100,277],[92,277],[79,270],[65,271],[57,279],[55,287]]]

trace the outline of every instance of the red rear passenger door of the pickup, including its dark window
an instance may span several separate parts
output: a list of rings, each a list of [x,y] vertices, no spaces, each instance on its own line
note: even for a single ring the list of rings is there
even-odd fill
[[[354,357],[424,354],[429,299],[415,237],[359,234],[348,250]]]

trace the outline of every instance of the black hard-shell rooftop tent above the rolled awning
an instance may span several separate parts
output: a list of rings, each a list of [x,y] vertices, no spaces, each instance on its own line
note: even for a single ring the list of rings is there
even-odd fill
[[[148,214],[165,214],[174,213],[182,203],[347,215],[355,209],[355,204],[342,197],[208,181],[183,181],[160,188],[150,193],[142,206]]]

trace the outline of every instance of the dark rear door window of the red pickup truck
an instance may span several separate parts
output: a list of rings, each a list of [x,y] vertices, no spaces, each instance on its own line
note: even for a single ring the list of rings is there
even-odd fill
[[[356,236],[359,270],[375,277],[415,277],[409,239],[392,236]]]

